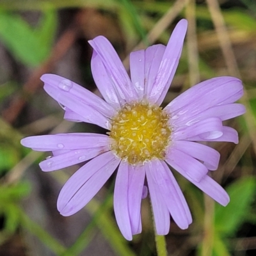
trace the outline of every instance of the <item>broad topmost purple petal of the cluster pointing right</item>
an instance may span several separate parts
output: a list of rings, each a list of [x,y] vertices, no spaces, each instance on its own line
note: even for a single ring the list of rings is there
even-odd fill
[[[243,91],[241,81],[235,77],[216,77],[199,83],[172,100],[165,110],[170,113],[173,125],[179,125],[191,120],[191,116],[203,113],[205,110],[223,102],[230,101],[232,95]],[[234,98],[232,98],[234,99]]]

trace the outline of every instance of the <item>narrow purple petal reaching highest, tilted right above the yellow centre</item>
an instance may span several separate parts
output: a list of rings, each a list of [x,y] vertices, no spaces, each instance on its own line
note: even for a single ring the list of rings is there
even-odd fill
[[[150,93],[150,102],[161,104],[172,83],[173,76],[179,64],[179,58],[182,52],[182,46],[186,35],[188,22],[185,19],[180,20],[166,46],[161,65],[157,72],[156,81]]]

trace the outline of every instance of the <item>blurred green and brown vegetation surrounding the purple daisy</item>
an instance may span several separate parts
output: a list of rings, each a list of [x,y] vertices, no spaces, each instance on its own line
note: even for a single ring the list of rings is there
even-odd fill
[[[56,132],[104,132],[63,121],[63,111],[40,76],[54,73],[99,94],[90,71],[87,40],[106,36],[125,67],[134,49],[166,44],[178,20],[189,21],[186,44],[167,104],[199,81],[236,76],[246,93],[246,115],[228,125],[239,144],[211,143],[221,153],[213,178],[231,201],[221,207],[182,179],[193,224],[172,222],[166,236],[175,256],[256,253],[256,1],[255,0],[0,0],[0,255],[156,255],[148,200],[143,232],[127,242],[113,215],[115,177],[83,211],[65,218],[56,209],[62,184],[79,166],[43,173],[47,155],[23,148],[24,136]]]

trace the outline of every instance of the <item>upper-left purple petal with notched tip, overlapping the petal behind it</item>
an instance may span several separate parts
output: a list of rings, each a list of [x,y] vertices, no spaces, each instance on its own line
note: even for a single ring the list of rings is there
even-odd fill
[[[137,95],[131,80],[109,40],[104,36],[97,36],[88,42],[93,47],[93,50],[99,54],[100,60],[105,66],[116,90],[119,90],[119,93],[122,92],[120,97],[124,100],[136,100]]]

